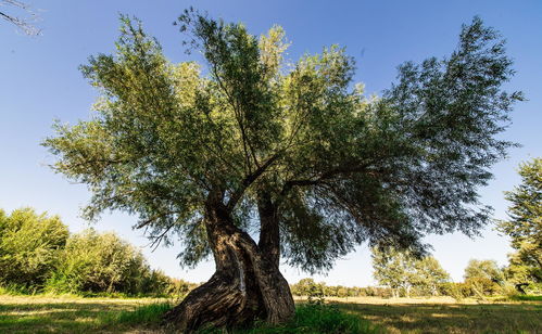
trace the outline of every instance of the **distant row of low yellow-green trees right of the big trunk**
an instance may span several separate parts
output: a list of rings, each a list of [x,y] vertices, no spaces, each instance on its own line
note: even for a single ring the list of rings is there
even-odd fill
[[[382,254],[378,253],[378,257]],[[327,285],[306,278],[292,284],[294,296],[310,298],[325,297],[430,297],[451,296],[455,299],[467,297],[486,298],[488,296],[516,295],[509,267],[499,267],[494,260],[472,259],[465,268],[464,281],[452,282],[433,257],[423,259],[408,258],[408,254],[393,252],[387,265],[374,267],[378,286]],[[525,285],[529,294],[542,293],[542,285],[531,282]]]

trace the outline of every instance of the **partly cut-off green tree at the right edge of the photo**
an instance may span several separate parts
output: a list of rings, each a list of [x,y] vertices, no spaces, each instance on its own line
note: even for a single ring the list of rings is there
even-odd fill
[[[521,183],[505,192],[512,203],[509,220],[499,222],[499,231],[512,239],[516,253],[509,255],[507,272],[519,290],[528,283],[542,282],[542,158],[519,167]]]

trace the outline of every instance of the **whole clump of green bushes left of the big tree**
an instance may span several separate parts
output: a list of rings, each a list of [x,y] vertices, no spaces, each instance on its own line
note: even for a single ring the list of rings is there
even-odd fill
[[[137,247],[58,216],[0,209],[0,286],[21,293],[185,295],[196,284],[151,269]]]

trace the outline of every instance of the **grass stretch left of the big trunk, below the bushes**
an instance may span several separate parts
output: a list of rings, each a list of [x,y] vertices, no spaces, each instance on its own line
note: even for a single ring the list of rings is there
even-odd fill
[[[0,297],[0,333],[118,333],[157,329],[172,307],[152,299]],[[154,332],[154,331],[152,331]]]

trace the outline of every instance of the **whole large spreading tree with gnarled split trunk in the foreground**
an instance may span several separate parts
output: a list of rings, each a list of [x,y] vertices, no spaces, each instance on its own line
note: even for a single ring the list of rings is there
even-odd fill
[[[45,145],[89,185],[89,219],[125,210],[156,243],[177,232],[182,264],[213,255],[215,274],[167,314],[180,330],[290,319],[280,255],[314,272],[364,241],[423,253],[425,233],[489,220],[476,189],[511,145],[494,136],[521,95],[502,91],[512,62],[479,18],[450,57],[404,64],[371,100],[337,46],[290,66],[279,27],[257,38],[193,11],[178,24],[204,70],[167,62],[124,17],[116,53],[83,66],[94,117]]]

